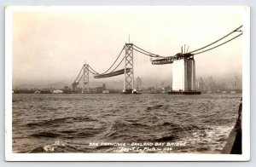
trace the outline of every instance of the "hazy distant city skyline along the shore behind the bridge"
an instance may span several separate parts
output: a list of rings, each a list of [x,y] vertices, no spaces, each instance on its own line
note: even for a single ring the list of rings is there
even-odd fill
[[[108,82],[101,82],[101,81],[90,81],[90,89],[97,88],[105,84],[107,89],[116,89],[120,90],[123,87],[123,81],[108,81]],[[152,80],[143,79],[141,77],[135,78],[135,85],[136,89],[148,89],[148,88],[170,88],[172,89],[172,81],[157,81],[153,82]],[[63,89],[64,87],[68,87],[72,89],[72,85],[67,82],[56,82],[56,83],[23,83],[13,85],[13,89]],[[79,89],[83,88],[82,83],[78,85]],[[209,91],[216,91],[216,90],[231,90],[231,89],[242,89],[242,78],[241,76],[234,76],[231,78],[225,79],[216,79],[212,78],[212,76],[207,77],[198,77],[196,78],[196,89],[201,90],[203,92]]]

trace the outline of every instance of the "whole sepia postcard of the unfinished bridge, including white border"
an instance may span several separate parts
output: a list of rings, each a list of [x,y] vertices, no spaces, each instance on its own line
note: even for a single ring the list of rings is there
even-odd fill
[[[247,6],[9,6],[9,161],[245,161]]]

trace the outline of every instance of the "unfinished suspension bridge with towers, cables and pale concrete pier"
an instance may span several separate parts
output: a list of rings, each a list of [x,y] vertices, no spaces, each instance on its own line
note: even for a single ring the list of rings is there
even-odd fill
[[[83,93],[89,92],[90,74],[92,74],[94,78],[111,78],[124,74],[124,89],[122,90],[122,93],[132,93],[135,90],[133,57],[136,55],[136,53],[140,53],[148,56],[152,65],[173,64],[171,93],[176,94],[179,92],[181,94],[200,94],[200,92],[196,92],[195,89],[194,56],[205,53],[212,49],[216,49],[225,43],[230,43],[232,40],[242,35],[241,28],[242,26],[237,27],[224,37],[220,37],[218,40],[209,43],[200,49],[189,51],[189,47],[186,49],[186,46],[184,45],[184,47],[181,48],[181,53],[171,56],[156,55],[146,49],[138,47],[134,43],[125,43],[116,60],[113,61],[113,64],[105,72],[96,72],[92,66],[89,64],[84,64],[79,72],[79,75],[72,83],[72,89],[76,90],[81,80],[83,80]],[[117,70],[122,62],[125,62],[124,68]]]

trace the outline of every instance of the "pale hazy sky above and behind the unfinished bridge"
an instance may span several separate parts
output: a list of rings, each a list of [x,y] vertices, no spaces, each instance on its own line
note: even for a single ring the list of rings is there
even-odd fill
[[[95,7],[61,12],[15,12],[13,82],[72,82],[84,62],[97,72],[104,72],[125,43],[129,43],[129,36],[130,42],[138,47],[169,56],[179,53],[184,44],[189,50],[201,48],[242,23],[241,13],[218,9]],[[196,77],[241,76],[242,40],[241,36],[217,49],[195,55]],[[121,68],[124,64],[118,69]],[[134,74],[135,78],[171,81],[172,64],[151,65],[150,58],[134,52]],[[93,81],[123,78],[122,75]]]

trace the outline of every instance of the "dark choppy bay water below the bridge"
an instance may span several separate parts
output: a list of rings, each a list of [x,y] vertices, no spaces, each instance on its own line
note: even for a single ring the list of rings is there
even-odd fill
[[[15,94],[13,153],[220,153],[240,100],[241,94]]]

